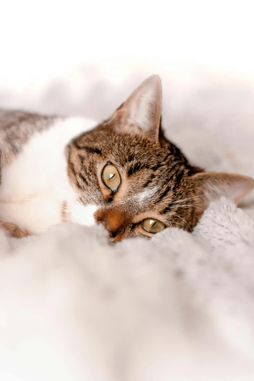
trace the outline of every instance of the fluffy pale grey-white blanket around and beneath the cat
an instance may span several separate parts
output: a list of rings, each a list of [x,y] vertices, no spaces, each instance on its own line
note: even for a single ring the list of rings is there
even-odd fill
[[[100,70],[22,97],[6,90],[1,106],[100,119],[161,73],[167,136],[194,164],[254,177],[249,80],[158,66],[116,83]],[[97,226],[21,240],[0,232],[0,380],[253,380],[253,205],[253,195],[241,208],[221,199],[192,234],[166,229],[115,246]]]

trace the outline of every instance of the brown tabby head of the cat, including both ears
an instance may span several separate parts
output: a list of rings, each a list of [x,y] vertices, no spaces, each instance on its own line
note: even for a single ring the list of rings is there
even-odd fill
[[[246,176],[204,172],[164,136],[162,86],[147,78],[105,122],[69,146],[69,176],[84,205],[94,205],[114,242],[151,237],[166,227],[191,231],[211,200],[240,200]]]

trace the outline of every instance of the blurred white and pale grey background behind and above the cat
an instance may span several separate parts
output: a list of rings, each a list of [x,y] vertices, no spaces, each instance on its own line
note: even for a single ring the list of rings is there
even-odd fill
[[[206,169],[254,176],[253,8],[246,0],[2,1],[0,107],[100,121],[157,73],[171,140]]]

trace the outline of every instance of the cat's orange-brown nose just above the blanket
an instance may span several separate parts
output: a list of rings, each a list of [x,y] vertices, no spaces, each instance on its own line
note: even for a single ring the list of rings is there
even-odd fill
[[[109,209],[100,214],[97,218],[98,224],[103,224],[109,232],[109,236],[114,238],[122,232],[129,223],[127,213],[118,209]]]

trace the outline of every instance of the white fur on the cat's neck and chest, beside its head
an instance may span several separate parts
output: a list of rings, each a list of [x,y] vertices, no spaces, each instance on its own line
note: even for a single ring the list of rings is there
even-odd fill
[[[57,119],[52,127],[31,137],[23,151],[2,169],[0,219],[17,223],[31,233],[43,233],[61,222],[66,201],[73,218],[91,225],[92,208],[77,214],[76,193],[67,175],[66,145],[76,135],[90,130],[96,122],[86,118]],[[87,218],[85,214],[88,212]]]

